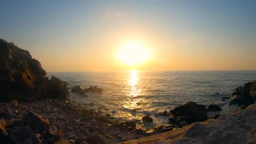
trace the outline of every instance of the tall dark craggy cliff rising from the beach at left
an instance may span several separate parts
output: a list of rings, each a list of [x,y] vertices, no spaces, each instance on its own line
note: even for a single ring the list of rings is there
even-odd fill
[[[66,84],[56,77],[48,80],[45,75],[40,62],[28,51],[0,39],[0,101],[51,98],[55,87],[61,91],[57,93],[59,98],[66,98]]]

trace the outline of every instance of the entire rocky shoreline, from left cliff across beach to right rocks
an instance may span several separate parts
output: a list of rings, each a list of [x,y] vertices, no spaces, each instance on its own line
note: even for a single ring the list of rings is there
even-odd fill
[[[206,109],[189,101],[155,114],[169,117],[170,125],[144,131],[135,120],[112,117],[103,106],[70,101],[67,83],[45,75],[28,51],[0,39],[0,144],[256,143],[256,81],[235,89],[229,104],[240,108],[230,115],[209,118],[207,112],[221,107]],[[103,89],[75,85],[71,91],[87,97]],[[144,115],[137,121],[153,119]]]

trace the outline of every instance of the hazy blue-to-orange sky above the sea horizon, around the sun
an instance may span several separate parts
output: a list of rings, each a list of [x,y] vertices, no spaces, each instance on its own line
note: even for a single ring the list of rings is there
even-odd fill
[[[0,18],[48,72],[256,70],[256,0],[1,0]],[[128,41],[150,59],[124,64]]]

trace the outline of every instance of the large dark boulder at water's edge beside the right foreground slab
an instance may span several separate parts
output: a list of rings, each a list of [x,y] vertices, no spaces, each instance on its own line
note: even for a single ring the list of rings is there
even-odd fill
[[[186,104],[171,109],[169,120],[171,123],[186,121],[188,124],[202,122],[208,119],[204,105],[189,101]]]

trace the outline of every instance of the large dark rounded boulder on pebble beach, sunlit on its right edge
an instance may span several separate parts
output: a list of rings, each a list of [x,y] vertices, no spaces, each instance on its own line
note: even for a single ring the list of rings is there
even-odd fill
[[[51,123],[48,120],[43,119],[40,115],[32,112],[28,112],[27,115],[23,117],[22,121],[25,125],[29,125],[35,133],[48,131],[51,126]]]

